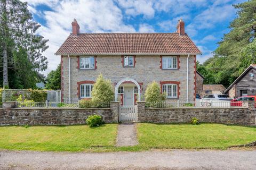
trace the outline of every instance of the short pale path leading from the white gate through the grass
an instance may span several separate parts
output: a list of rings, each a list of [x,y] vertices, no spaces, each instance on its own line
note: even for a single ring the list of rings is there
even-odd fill
[[[122,123],[118,125],[116,146],[138,145],[137,129],[135,123]]]

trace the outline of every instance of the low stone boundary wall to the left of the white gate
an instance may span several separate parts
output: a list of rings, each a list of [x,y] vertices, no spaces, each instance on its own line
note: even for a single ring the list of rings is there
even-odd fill
[[[0,109],[0,125],[85,124],[89,115],[98,114],[106,123],[117,123],[119,103],[111,108],[9,108]]]

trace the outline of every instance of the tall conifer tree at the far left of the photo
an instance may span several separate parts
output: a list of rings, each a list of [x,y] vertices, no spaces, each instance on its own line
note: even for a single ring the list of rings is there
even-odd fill
[[[27,3],[19,0],[0,1],[0,50],[3,87],[33,88],[47,68],[46,57],[41,53],[48,48],[42,36],[36,34],[40,27],[34,22]],[[10,84],[9,72],[18,84]]]

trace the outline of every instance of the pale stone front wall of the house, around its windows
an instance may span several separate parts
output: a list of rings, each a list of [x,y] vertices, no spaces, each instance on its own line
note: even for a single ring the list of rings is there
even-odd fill
[[[69,98],[69,77],[68,77],[68,57],[61,57],[61,89],[63,100],[67,101]],[[79,96],[77,82],[81,81],[95,81],[100,73],[103,77],[110,79],[113,86],[123,78],[131,78],[142,85],[142,93],[145,92],[147,84],[152,81],[179,81],[180,82],[180,100],[186,100],[186,81],[187,81],[187,56],[179,57],[179,70],[162,70],[161,57],[155,56],[135,56],[135,67],[123,67],[122,56],[97,56],[97,69],[95,70],[79,70],[77,56],[70,56],[71,61],[71,100],[77,101]],[[195,65],[196,56],[190,55],[189,58],[189,100],[195,98]],[[143,97],[142,97],[143,98]]]

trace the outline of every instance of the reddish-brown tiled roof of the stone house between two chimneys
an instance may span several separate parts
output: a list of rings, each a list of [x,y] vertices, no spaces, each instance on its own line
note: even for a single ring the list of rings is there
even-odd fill
[[[79,54],[201,54],[179,33],[81,33],[69,35],[56,55]]]

